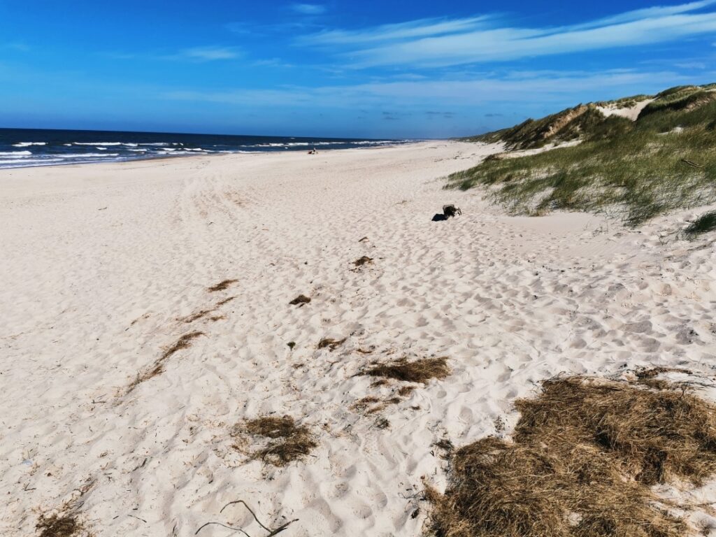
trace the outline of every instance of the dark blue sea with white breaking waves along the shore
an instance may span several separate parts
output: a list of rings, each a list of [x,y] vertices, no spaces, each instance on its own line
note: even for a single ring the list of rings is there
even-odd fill
[[[380,147],[415,140],[0,129],[0,168],[216,155]]]

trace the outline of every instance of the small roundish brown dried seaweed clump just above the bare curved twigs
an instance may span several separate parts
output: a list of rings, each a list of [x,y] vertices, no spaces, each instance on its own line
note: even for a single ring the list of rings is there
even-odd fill
[[[246,420],[233,427],[231,436],[236,440],[234,448],[247,453],[251,460],[279,467],[305,458],[318,446],[309,428],[296,425],[289,416],[262,416]],[[261,442],[261,447],[247,449],[251,440]]]

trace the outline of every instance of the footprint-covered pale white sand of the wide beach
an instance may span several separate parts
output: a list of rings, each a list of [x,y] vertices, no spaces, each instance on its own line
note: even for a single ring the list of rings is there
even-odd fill
[[[643,365],[707,379],[714,246],[660,238],[696,211],[629,231],[510,218],[479,190],[442,190],[498,150],[0,170],[0,534],[32,536],[39,513],[79,500],[97,537],[192,536],[208,521],[264,535],[241,505],[219,513],[243,499],[263,523],[298,518],[286,537],[417,536],[421,479],[445,483],[432,442],[508,435],[513,401],[542,379]],[[431,222],[444,203],[463,216]],[[374,264],[352,271],[363,255]],[[206,290],[223,279],[238,283]],[[298,294],[313,301],[289,306]],[[231,296],[222,319],[178,320]],[[122,395],[193,330],[205,336]],[[348,340],[329,352],[323,337]],[[432,355],[450,377],[382,414],[352,410],[399,385],[354,376],[366,364]],[[264,468],[231,448],[233,424],[269,412],[316,432],[304,463]]]

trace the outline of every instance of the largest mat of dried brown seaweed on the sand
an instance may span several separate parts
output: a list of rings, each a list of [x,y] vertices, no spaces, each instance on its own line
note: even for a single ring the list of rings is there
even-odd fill
[[[437,536],[684,535],[649,485],[701,483],[716,470],[712,405],[683,391],[566,377],[516,406],[514,442],[460,448],[445,494],[428,490]]]

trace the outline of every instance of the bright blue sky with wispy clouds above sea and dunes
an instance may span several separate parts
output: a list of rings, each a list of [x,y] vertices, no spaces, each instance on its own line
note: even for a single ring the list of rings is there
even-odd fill
[[[0,127],[450,137],[716,82],[716,0],[0,0]]]

